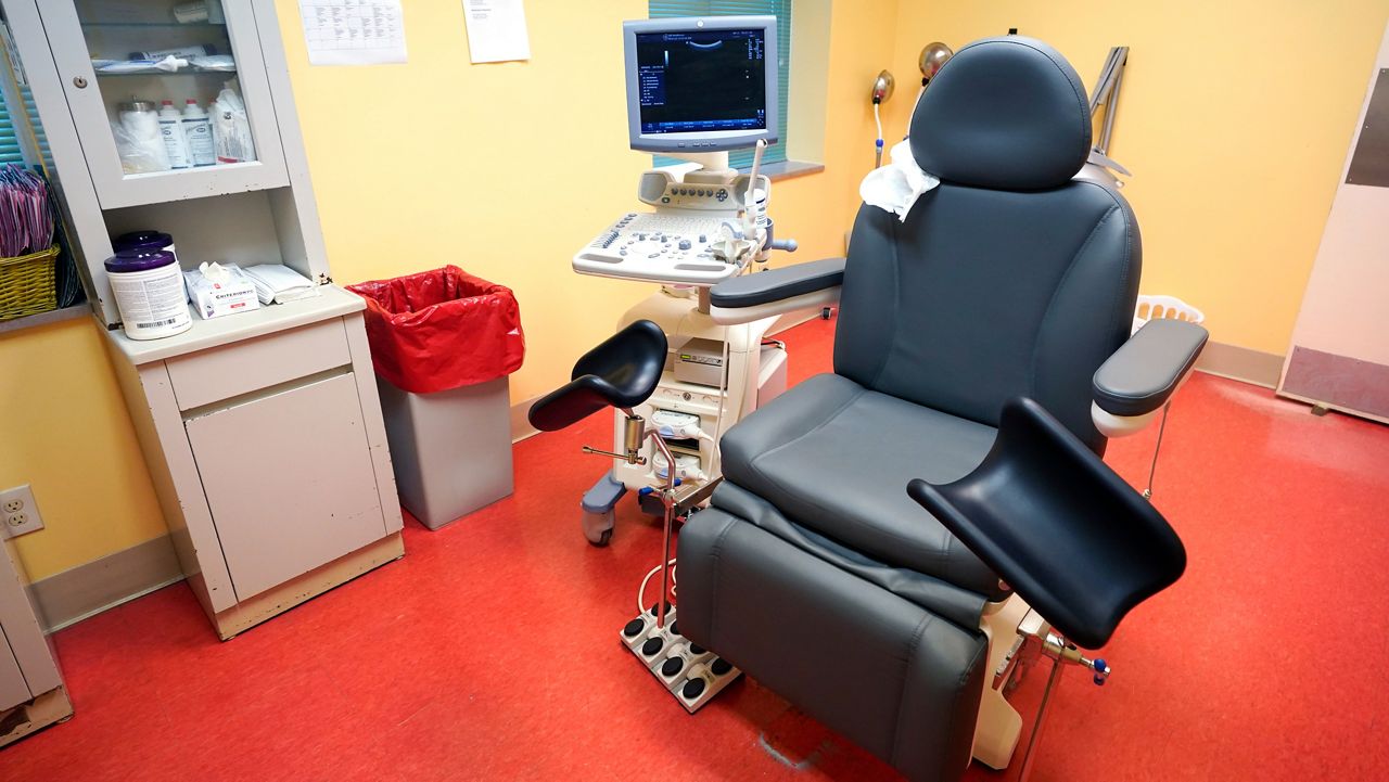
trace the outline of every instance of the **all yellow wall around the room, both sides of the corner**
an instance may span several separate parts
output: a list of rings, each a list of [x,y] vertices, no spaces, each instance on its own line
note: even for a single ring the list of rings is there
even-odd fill
[[[617,26],[646,3],[531,0],[533,58],[500,65],[468,63],[457,0],[406,6],[407,65],[311,68],[297,4],[276,0],[329,260],[339,282],[457,263],[514,288],[529,353],[513,397],[525,400],[651,290],[569,269],[576,247],[636,204],[650,161],[625,144]],[[901,85],[886,111],[897,139],[928,40],[1018,26],[1056,43],[1088,83],[1124,43],[1111,151],[1136,174],[1125,193],[1143,225],[1145,290],[1204,308],[1215,339],[1286,347],[1389,0],[1333,14],[1249,0],[1108,14],[1076,0],[796,7],[804,31],[831,17],[825,100],[799,115],[793,104],[790,119],[793,132],[822,131],[826,168],[772,193],[778,232],[801,242],[795,260],[840,251],[872,163],[879,68]],[[0,488],[32,483],[49,524],[17,542],[32,578],[164,532],[101,339],[88,321],[0,336]]]

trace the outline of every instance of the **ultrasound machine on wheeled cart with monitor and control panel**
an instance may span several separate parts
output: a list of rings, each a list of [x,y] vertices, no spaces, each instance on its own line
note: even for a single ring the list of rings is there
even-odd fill
[[[617,463],[583,499],[583,533],[606,544],[613,506],[675,469],[683,483],[720,474],[718,436],[786,388],[786,351],[764,340],[776,317],[724,325],[708,289],[793,251],[767,217],[771,181],[757,174],[776,142],[775,17],[647,19],[624,24],[628,129],[633,150],[685,164],[642,174],[638,200],[574,256],[574,271],[654,282],[661,289],[617,326],[649,319],[669,342],[665,372],[638,414],[661,426],[674,465],[651,444],[644,464]],[[728,150],[756,147],[753,171],[728,165]],[[617,450],[624,415],[617,414]],[[658,507],[649,510],[658,513]]]

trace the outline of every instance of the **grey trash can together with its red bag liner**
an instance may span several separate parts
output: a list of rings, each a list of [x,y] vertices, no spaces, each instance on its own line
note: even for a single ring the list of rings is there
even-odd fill
[[[367,300],[400,504],[439,529],[511,494],[507,375],[525,356],[511,290],[454,265],[347,290]]]

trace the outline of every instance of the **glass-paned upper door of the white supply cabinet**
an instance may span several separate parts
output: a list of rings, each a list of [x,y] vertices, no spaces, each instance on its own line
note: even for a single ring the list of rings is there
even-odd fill
[[[251,4],[207,6],[214,14],[175,14],[169,0],[39,4],[103,208],[289,183]],[[224,86],[244,101],[250,144],[236,143],[244,135],[222,132],[224,113],[211,104]],[[188,117],[161,125],[164,100],[178,111],[194,100],[210,124]],[[228,139],[215,142],[211,158],[210,136]]]

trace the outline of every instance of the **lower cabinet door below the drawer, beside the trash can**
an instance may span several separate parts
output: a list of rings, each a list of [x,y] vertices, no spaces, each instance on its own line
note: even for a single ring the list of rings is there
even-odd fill
[[[351,372],[185,426],[238,600],[386,535]]]

